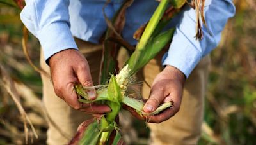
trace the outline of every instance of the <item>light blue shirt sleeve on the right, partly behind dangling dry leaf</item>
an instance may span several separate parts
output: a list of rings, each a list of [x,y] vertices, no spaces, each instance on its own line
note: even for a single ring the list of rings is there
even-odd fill
[[[176,67],[187,78],[202,57],[216,48],[228,18],[234,16],[236,11],[232,0],[206,0],[205,2],[205,21],[213,36],[210,36],[207,29],[203,27],[204,38],[201,41],[195,39],[196,12],[193,8],[188,8],[180,15],[180,22],[176,27],[168,53],[163,57],[163,65]]]

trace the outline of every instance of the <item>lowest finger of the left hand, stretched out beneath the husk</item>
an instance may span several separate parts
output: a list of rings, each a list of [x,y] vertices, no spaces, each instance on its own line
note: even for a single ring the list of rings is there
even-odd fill
[[[104,114],[110,112],[111,108],[107,105],[92,104],[90,106],[81,107],[79,110],[93,114]]]

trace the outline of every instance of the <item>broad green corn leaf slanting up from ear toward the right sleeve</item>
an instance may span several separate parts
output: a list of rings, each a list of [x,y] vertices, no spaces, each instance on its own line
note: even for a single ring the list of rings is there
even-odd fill
[[[172,39],[174,29],[165,31],[155,38],[148,40],[145,49],[136,49],[132,53],[130,59],[127,61],[129,68],[131,69],[131,75],[137,72],[141,67],[145,66],[151,59],[153,59],[157,53],[159,53],[164,46]]]

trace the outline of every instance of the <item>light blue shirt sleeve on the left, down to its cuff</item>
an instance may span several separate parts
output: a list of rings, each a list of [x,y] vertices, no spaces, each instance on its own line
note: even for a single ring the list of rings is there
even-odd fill
[[[68,48],[77,49],[70,32],[69,0],[27,0],[22,22],[40,41],[45,60]]]

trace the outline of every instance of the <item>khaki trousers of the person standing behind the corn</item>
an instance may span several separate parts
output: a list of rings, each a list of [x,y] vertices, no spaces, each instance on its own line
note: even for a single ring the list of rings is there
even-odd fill
[[[100,45],[93,45],[76,39],[81,52],[84,53],[92,73],[93,83],[97,85],[99,66],[102,56]],[[143,71],[138,74],[151,85],[156,75],[161,72],[162,54],[151,60]],[[41,66],[49,73],[49,66],[45,64],[41,55]],[[124,56],[122,56],[124,57]],[[196,66],[186,81],[182,104],[179,113],[163,123],[149,123],[151,130],[150,144],[196,144],[201,132],[204,110],[204,95],[207,85],[209,56],[204,57]],[[54,93],[51,80],[42,76],[43,102],[54,124],[49,123],[47,130],[47,144],[67,144],[75,134],[77,126],[84,120],[91,118],[88,114],[70,108]],[[142,95],[148,97],[150,88],[143,85]]]

